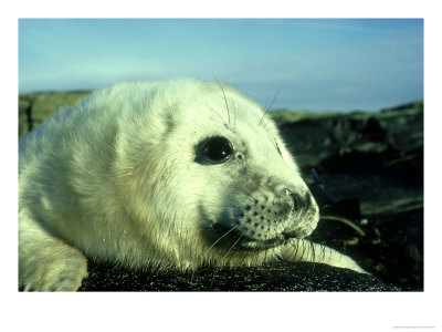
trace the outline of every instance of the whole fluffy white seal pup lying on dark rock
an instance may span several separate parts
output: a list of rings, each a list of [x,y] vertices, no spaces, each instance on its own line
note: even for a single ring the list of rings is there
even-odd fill
[[[362,271],[332,249],[304,246],[317,221],[274,123],[219,83],[123,83],[20,142],[24,290],[76,290],[85,256],[130,268],[282,258]]]

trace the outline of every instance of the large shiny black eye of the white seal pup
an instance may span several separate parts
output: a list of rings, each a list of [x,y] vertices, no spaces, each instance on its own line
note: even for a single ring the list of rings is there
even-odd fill
[[[217,165],[225,163],[232,155],[232,143],[227,137],[212,136],[197,145],[194,160],[202,165]]]

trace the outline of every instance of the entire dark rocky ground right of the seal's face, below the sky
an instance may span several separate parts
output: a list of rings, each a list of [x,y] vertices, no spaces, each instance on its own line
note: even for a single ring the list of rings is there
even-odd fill
[[[306,131],[329,144],[306,146]],[[380,280],[423,290],[423,103],[299,121],[282,132],[294,154],[305,156],[298,162],[323,207],[313,238]]]

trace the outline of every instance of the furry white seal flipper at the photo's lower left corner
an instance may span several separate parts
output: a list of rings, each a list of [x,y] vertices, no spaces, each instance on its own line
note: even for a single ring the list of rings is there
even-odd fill
[[[19,212],[19,288],[76,291],[87,277],[83,253],[50,235],[25,210]]]

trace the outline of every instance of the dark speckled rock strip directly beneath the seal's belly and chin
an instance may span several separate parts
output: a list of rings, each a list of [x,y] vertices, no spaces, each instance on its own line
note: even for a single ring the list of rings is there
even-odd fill
[[[80,291],[404,291],[369,274],[320,263],[134,272],[90,264]]]

